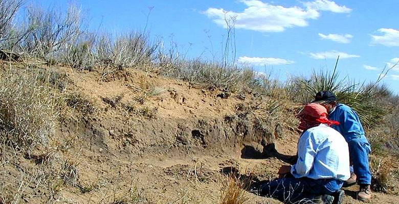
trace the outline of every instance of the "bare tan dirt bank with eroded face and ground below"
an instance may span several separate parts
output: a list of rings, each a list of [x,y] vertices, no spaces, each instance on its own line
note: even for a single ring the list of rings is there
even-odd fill
[[[280,105],[273,113],[267,96],[136,69],[105,77],[46,71],[63,82],[65,110],[50,147],[29,155],[2,149],[0,203],[218,203],[227,170],[271,179],[296,152],[293,110]],[[275,143],[280,157],[265,157],[262,140]],[[361,203],[356,189],[346,189],[344,203]],[[374,193],[372,203],[399,203],[399,196]]]

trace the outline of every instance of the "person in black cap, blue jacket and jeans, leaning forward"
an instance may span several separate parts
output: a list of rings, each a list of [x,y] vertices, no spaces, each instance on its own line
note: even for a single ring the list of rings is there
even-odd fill
[[[323,105],[327,109],[328,119],[340,122],[339,125],[331,127],[344,136],[349,146],[349,157],[353,165],[353,172],[345,182],[345,186],[351,186],[358,182],[360,186],[358,199],[369,201],[371,198],[371,172],[368,155],[371,152],[371,147],[358,114],[350,107],[337,103],[335,94],[330,91],[318,92],[313,103]]]

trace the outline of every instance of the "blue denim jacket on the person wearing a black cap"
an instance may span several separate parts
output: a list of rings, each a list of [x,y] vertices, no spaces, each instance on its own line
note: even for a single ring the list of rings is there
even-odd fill
[[[353,139],[360,139],[360,141],[366,144],[370,149],[370,144],[364,134],[359,116],[351,108],[344,104],[338,104],[335,110],[329,114],[328,118],[341,123],[340,125],[332,125],[331,127],[341,133],[346,142],[350,142]]]

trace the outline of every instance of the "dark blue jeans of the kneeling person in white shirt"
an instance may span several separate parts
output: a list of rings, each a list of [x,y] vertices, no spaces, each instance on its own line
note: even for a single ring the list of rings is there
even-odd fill
[[[312,200],[319,195],[333,194],[342,187],[343,183],[335,179],[285,177],[263,184],[259,188],[259,194],[274,197],[283,202],[298,202]]]

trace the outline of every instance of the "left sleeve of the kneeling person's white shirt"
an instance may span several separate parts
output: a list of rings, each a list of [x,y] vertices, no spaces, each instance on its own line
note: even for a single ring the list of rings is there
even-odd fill
[[[309,172],[313,168],[317,147],[315,147],[312,135],[313,133],[305,132],[299,139],[298,160],[297,163],[291,167],[291,174],[296,178],[309,175]]]

